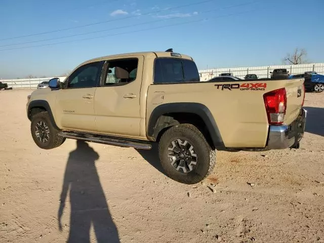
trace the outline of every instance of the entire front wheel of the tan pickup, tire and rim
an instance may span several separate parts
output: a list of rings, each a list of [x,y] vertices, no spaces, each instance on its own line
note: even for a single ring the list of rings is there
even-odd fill
[[[30,132],[36,145],[43,149],[56,148],[65,141],[65,138],[58,136],[59,130],[52,125],[48,112],[32,116]]]

